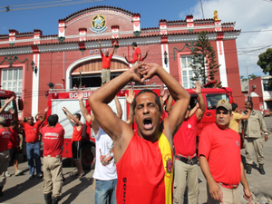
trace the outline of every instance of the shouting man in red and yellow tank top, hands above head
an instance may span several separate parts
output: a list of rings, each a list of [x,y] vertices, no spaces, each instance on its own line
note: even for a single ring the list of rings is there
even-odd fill
[[[160,122],[160,98],[145,89],[134,98],[133,111],[138,131],[112,112],[108,105],[127,83],[143,83],[158,76],[176,101],[170,116]],[[117,203],[172,203],[173,136],[189,105],[189,92],[159,64],[139,63],[104,84],[89,96],[96,120],[113,141],[118,175]]]

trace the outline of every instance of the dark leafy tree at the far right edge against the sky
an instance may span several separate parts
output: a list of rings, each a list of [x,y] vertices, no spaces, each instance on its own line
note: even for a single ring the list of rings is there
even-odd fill
[[[257,65],[263,69],[263,73],[272,75],[272,48],[268,48],[265,53],[258,55]]]

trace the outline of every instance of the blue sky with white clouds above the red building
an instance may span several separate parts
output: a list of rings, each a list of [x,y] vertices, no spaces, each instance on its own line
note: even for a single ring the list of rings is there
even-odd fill
[[[202,18],[199,0],[96,0],[80,5],[1,12],[7,5],[13,9],[19,8],[13,7],[15,5],[30,7],[31,4],[56,1],[61,3],[63,0],[1,0],[0,34],[9,34],[9,29],[15,29],[19,33],[40,29],[44,35],[58,34],[59,19],[96,5],[111,5],[131,13],[140,13],[141,28],[158,27],[160,19],[184,20],[186,15],[193,15],[194,19]],[[218,10],[221,23],[236,22],[235,29],[241,29],[237,39],[240,75],[247,77],[247,67],[248,74],[264,75],[257,60],[258,54],[272,47],[272,0],[202,0],[202,5],[205,18],[213,18],[214,10]]]

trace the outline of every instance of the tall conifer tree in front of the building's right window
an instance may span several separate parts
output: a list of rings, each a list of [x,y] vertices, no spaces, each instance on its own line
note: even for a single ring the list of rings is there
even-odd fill
[[[194,83],[200,81],[203,84],[214,81],[214,73],[218,72],[220,65],[217,62],[216,53],[209,43],[209,38],[205,31],[199,33],[199,39],[194,45],[196,47],[192,51],[193,62],[190,64],[194,76],[190,80]],[[216,85],[220,87],[220,84],[217,83]]]

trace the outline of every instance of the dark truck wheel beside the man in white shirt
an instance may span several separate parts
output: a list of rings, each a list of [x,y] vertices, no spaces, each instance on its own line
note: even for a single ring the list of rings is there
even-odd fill
[[[93,170],[95,165],[95,148],[92,145],[85,145],[82,149],[83,169]]]

